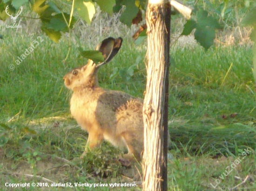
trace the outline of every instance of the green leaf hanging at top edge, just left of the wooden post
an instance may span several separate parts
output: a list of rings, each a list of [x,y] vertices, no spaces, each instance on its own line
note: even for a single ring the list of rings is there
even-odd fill
[[[131,26],[132,20],[136,17],[139,8],[135,5],[135,0],[124,0],[122,2],[126,8],[120,16],[120,21],[125,25]]]

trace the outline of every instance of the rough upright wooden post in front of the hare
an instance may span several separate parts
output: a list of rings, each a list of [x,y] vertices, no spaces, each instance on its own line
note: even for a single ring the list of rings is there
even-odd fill
[[[143,191],[167,191],[170,3],[148,0]]]

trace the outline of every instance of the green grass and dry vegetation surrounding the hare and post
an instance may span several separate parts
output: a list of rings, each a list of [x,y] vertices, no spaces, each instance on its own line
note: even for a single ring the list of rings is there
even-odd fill
[[[215,44],[208,51],[196,44],[192,35],[179,37],[185,19],[172,16],[170,191],[229,190],[248,175],[245,183],[236,189],[256,188],[256,95],[251,29],[241,27],[242,19],[255,2],[226,2],[226,7],[219,0],[197,2],[197,6],[218,18],[221,25]],[[195,1],[188,0],[186,4],[194,6]],[[0,25],[3,36],[0,39],[1,190],[10,189],[5,187],[6,182],[134,182],[139,178],[136,168],[121,166],[117,162],[121,151],[108,143],[89,153],[83,161],[76,160],[83,151],[87,134],[69,114],[71,92],[64,87],[62,77],[87,62],[79,54],[79,45],[94,49],[106,37],[121,36],[122,48],[111,63],[101,68],[99,82],[103,88],[143,97],[146,42],[135,45],[131,36],[136,26],[130,29],[118,21],[119,14],[110,17],[98,10],[90,26],[78,21],[71,35],[71,51],[64,61],[69,37],[63,34],[60,43],[54,43],[40,31],[39,20],[31,19],[36,17],[24,7],[19,20],[22,28],[6,28],[11,25],[10,19]],[[38,36],[43,41],[17,65],[17,57]],[[8,69],[10,64],[14,64],[14,70]],[[247,148],[251,153],[213,188],[210,184],[216,185],[216,178]],[[139,190],[139,187],[104,189]],[[64,188],[51,188],[54,189]]]

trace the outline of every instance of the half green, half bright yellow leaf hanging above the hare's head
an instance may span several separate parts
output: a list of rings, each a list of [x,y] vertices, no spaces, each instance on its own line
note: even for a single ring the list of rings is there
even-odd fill
[[[90,25],[95,14],[94,3],[91,0],[75,0],[74,7],[77,9],[79,16]]]

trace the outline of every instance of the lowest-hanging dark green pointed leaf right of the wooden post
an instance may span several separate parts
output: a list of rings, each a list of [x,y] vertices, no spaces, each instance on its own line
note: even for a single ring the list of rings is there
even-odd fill
[[[213,45],[213,40],[215,38],[215,29],[209,26],[196,26],[195,39],[197,42],[204,47],[205,50],[208,50],[211,45]]]

